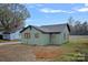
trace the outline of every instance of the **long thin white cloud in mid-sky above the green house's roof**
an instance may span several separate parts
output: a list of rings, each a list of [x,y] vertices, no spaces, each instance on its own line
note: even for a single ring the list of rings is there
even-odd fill
[[[65,10],[59,10],[59,9],[50,9],[50,8],[43,8],[40,9],[41,12],[43,13],[72,13],[74,11],[65,11]]]

